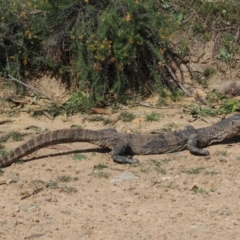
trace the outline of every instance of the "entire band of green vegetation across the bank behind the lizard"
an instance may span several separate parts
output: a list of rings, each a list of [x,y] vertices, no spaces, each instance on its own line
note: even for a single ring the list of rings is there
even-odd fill
[[[159,104],[166,97],[176,101],[184,88],[174,73],[181,64],[191,72],[193,39],[217,36],[215,58],[236,60],[239,6],[233,0],[1,1],[0,75],[22,82],[46,73],[57,77],[72,91],[68,109],[152,93]],[[206,68],[191,80],[204,87],[214,73]]]

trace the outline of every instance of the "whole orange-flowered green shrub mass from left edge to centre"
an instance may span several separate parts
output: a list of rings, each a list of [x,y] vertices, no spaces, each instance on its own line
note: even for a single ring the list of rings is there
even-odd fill
[[[162,87],[176,25],[154,0],[12,0],[1,12],[2,72],[51,70],[97,102]]]

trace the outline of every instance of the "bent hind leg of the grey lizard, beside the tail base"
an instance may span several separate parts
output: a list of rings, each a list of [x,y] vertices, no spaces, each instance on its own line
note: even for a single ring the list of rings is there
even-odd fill
[[[111,157],[114,162],[117,163],[129,163],[129,164],[136,164],[139,163],[138,159],[134,159],[131,156],[123,156],[128,151],[128,146],[124,144],[122,141],[119,141],[111,151]]]

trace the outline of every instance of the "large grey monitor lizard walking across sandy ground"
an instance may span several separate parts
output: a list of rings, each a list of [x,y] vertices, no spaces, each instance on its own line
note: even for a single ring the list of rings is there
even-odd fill
[[[161,134],[119,133],[114,129],[98,131],[87,129],[62,129],[40,134],[17,147],[0,159],[0,168],[11,165],[22,157],[49,145],[71,142],[89,142],[111,149],[117,163],[139,163],[132,155],[161,154],[188,149],[195,155],[209,155],[202,149],[240,133],[240,114],[226,118],[210,127],[195,129],[186,126],[181,131]]]

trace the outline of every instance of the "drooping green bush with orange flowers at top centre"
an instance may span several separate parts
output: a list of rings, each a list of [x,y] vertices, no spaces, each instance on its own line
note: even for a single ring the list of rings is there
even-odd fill
[[[76,11],[76,21],[70,24]],[[174,24],[155,1],[84,1],[68,12],[71,17],[67,22],[64,18],[64,25],[72,25],[68,49],[79,90],[101,102],[115,93],[119,99],[123,94],[132,97],[147,84],[161,82],[158,63],[164,59]]]

